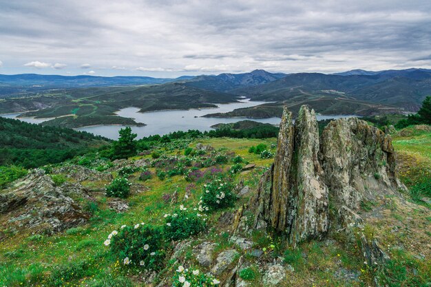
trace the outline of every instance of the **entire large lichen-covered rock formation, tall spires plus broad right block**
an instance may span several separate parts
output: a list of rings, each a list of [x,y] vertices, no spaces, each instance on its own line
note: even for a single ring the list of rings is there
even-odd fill
[[[358,118],[331,122],[319,140],[315,112],[302,106],[295,124],[284,109],[274,163],[260,180],[254,227],[270,225],[297,244],[334,226],[355,222],[360,203],[402,187],[395,178],[390,136]]]

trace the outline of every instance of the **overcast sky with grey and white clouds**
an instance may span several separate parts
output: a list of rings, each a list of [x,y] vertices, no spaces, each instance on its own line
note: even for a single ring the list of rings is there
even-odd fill
[[[0,74],[431,68],[429,0],[0,0]]]

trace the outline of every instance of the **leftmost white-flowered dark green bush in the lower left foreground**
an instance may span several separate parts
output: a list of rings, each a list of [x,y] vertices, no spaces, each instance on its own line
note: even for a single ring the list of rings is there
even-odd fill
[[[164,241],[160,228],[143,223],[121,226],[120,231],[112,231],[104,242],[111,253],[125,266],[138,266],[160,270],[165,259]]]

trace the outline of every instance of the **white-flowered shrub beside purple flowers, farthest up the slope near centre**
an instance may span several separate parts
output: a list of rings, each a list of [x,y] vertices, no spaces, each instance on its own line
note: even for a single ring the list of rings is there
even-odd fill
[[[232,184],[220,179],[204,184],[204,192],[199,202],[199,211],[222,209],[233,206],[236,195],[232,193]]]

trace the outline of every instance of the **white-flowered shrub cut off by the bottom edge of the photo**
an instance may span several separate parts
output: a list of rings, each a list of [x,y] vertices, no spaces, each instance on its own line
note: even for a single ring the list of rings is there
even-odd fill
[[[212,275],[200,272],[199,269],[185,269],[183,266],[178,266],[174,277],[174,287],[212,287],[220,284],[218,279]]]

